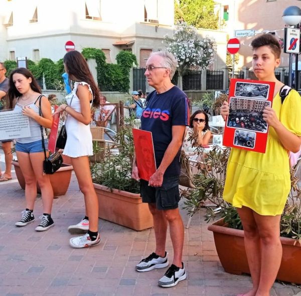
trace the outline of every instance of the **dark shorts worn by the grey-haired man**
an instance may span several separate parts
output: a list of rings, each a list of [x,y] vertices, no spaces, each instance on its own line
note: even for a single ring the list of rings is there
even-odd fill
[[[180,201],[179,176],[165,176],[161,187],[148,186],[148,181],[141,179],[140,194],[143,202],[156,203],[158,210],[176,209]]]

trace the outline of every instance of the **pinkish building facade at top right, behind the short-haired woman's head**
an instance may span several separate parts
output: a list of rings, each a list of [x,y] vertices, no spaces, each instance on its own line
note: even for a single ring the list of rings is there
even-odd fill
[[[285,27],[283,11],[289,6],[301,7],[300,0],[216,0],[215,10],[220,14],[220,29],[233,38],[235,30],[255,30],[256,35],[268,33],[283,38]],[[254,37],[238,38],[241,43],[238,68],[251,67],[250,43]],[[288,67],[288,54],[282,53],[280,67]]]

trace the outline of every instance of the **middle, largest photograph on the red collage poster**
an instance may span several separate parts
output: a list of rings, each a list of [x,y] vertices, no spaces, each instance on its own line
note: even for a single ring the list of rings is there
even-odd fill
[[[227,127],[266,133],[268,125],[263,120],[263,109],[271,102],[232,97],[230,99]]]

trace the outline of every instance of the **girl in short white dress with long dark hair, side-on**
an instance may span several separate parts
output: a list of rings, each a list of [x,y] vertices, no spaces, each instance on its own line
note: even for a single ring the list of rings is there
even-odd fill
[[[90,132],[91,106],[99,107],[99,90],[93,80],[84,57],[77,51],[68,52],[64,56],[65,71],[74,82],[72,92],[66,97],[67,104],[62,104],[54,116],[65,111],[67,142],[64,155],[70,156],[73,169],[84,194],[86,214],[76,225],[69,226],[69,232],[84,231],[83,236],[70,239],[70,245],[82,248],[100,243],[98,233],[98,199],[93,187],[89,155],[93,155],[92,135]]]

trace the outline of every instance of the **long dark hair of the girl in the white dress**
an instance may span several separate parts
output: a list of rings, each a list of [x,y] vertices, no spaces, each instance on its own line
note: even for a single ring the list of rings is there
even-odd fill
[[[83,55],[77,51],[68,52],[64,56],[64,64],[66,65],[69,78],[72,77],[79,82],[83,81],[90,85],[94,95],[92,106],[98,108],[100,104],[99,89]]]

